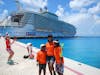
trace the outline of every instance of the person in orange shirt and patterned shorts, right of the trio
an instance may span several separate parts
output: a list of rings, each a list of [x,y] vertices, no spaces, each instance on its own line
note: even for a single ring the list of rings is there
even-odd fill
[[[58,75],[63,75],[64,72],[64,58],[61,56],[61,50],[62,48],[60,47],[60,44],[58,41],[54,41],[54,56],[55,56],[55,61],[56,61],[56,72]]]

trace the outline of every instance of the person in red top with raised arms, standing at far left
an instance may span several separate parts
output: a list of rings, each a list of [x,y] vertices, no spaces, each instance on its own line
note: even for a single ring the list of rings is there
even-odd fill
[[[10,37],[9,36],[6,36],[6,38],[5,38],[5,40],[6,40],[6,50],[7,50],[7,52],[9,53],[9,57],[8,57],[8,64],[9,63],[11,63],[12,62],[12,57],[13,57],[13,55],[14,55],[14,52],[12,51],[12,49],[11,49],[11,45],[14,43],[14,41],[16,40],[16,39],[14,39],[12,42],[10,41]]]

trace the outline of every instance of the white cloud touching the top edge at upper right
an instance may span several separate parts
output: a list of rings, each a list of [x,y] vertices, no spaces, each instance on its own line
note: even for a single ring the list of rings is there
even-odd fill
[[[81,9],[94,3],[95,0],[71,0],[69,5],[72,9]]]

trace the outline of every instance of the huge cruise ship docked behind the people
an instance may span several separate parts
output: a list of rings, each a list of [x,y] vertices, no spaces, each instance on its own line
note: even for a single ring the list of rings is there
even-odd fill
[[[17,1],[18,3],[18,1]],[[5,22],[5,23],[4,23]],[[0,33],[9,33],[11,37],[73,37],[76,28],[58,19],[56,14],[47,10],[40,12],[19,10],[11,13],[4,22],[0,22]]]

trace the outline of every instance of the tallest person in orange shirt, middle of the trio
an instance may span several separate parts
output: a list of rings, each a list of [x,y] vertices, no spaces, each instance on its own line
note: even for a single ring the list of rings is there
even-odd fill
[[[49,68],[50,74],[56,75],[56,73],[54,71],[55,58],[54,58],[54,42],[53,42],[52,35],[48,35],[48,42],[46,43],[46,50],[47,50],[47,63],[48,63],[48,68]]]

